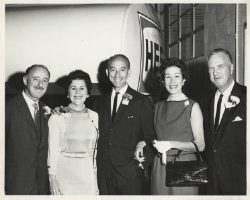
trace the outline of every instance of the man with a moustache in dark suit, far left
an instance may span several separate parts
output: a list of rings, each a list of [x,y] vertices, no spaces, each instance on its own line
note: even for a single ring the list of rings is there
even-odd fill
[[[5,107],[5,193],[49,194],[47,153],[48,121],[45,94],[50,72],[32,65],[23,77],[24,91],[8,100]]]

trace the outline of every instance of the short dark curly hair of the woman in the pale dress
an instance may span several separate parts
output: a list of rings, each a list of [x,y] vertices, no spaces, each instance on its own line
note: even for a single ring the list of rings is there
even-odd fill
[[[70,72],[67,76],[66,88],[68,89],[73,80],[84,80],[87,86],[88,94],[92,89],[92,82],[87,72],[80,69]]]

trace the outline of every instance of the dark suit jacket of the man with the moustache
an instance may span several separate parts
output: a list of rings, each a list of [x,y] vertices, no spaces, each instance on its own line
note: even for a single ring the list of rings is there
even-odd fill
[[[37,128],[22,95],[6,102],[6,194],[48,194],[48,120],[42,106],[39,102]]]

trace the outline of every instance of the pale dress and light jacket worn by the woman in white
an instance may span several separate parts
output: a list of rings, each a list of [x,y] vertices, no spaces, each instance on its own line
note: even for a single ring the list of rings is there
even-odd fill
[[[49,174],[56,175],[63,195],[98,194],[96,119],[94,111],[71,110],[49,120]]]

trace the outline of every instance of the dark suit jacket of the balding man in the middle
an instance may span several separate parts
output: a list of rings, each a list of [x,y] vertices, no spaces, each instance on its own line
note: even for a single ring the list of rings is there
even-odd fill
[[[115,170],[125,179],[138,173],[138,161],[134,152],[139,141],[152,141],[155,138],[153,130],[153,104],[150,100],[128,87],[126,93],[133,99],[128,105],[120,104],[114,122],[111,120],[111,93],[101,96],[97,103],[99,114],[100,136],[97,150],[98,183],[101,186],[102,173],[105,173],[106,162],[111,160]],[[146,145],[147,167],[152,162],[153,153]]]

